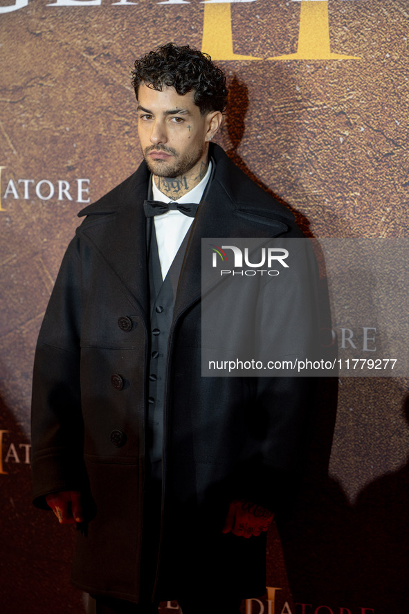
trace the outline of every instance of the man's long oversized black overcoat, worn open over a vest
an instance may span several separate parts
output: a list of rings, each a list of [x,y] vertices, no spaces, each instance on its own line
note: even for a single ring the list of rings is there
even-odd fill
[[[241,597],[264,592],[264,536],[221,534],[231,498],[278,510],[308,419],[309,380],[201,377],[201,238],[300,237],[293,215],[212,145],[215,176],[194,219],[168,346],[159,570],[178,583]],[[88,206],[66,251],[37,343],[33,378],[35,504],[83,493],[73,582],[138,600],[143,534],[149,293],[145,163]],[[285,327],[300,282],[269,306]],[[308,289],[307,289],[308,291]],[[286,294],[286,293],[284,293]],[[305,296],[302,297],[302,301]],[[301,303],[302,303],[301,301]],[[293,314],[293,321],[302,314]],[[118,379],[119,376],[119,379]],[[118,385],[119,382],[119,385]],[[161,582],[159,583],[161,586]],[[166,593],[166,594],[165,594]]]

